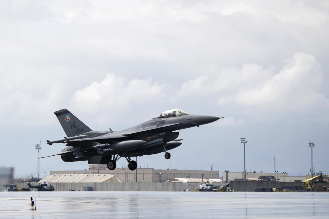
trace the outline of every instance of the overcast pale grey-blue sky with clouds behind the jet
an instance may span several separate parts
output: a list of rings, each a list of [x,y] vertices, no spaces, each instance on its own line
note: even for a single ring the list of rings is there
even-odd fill
[[[223,117],[138,166],[328,174],[328,1],[0,1],[0,166],[37,175],[54,111],[121,130],[168,109]],[[126,165],[120,159],[117,167]],[[88,168],[60,156],[49,170]]]

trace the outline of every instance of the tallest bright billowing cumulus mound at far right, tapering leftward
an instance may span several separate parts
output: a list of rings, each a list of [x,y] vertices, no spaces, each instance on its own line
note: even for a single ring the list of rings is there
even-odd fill
[[[316,58],[297,53],[261,86],[241,89],[236,95],[236,103],[289,112],[304,112],[313,106],[319,107],[320,102],[328,107],[329,100],[317,91],[322,80],[322,70]]]

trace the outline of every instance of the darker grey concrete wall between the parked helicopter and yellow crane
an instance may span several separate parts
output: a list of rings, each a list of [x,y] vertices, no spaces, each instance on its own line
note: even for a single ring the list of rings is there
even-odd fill
[[[230,188],[235,191],[255,191],[255,188],[281,188],[282,186],[303,186],[301,182],[263,182],[263,181],[230,181]]]

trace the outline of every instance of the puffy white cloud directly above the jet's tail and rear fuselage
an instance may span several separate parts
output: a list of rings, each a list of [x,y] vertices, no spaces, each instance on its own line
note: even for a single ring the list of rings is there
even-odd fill
[[[133,103],[150,102],[162,97],[165,85],[153,83],[151,78],[127,81],[114,73],[107,74],[100,82],[78,90],[73,96],[77,107],[93,112],[99,108],[127,107]]]

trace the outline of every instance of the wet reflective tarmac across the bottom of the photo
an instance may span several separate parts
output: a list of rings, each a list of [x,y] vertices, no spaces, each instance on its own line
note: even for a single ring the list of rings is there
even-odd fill
[[[37,210],[31,209],[30,197]],[[329,192],[0,192],[0,218],[328,218]]]

